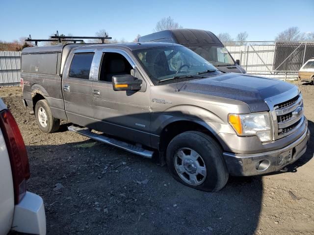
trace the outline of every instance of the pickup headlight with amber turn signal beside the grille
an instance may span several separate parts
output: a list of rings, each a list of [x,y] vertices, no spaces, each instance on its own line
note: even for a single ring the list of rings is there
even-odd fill
[[[228,119],[239,136],[258,136],[262,142],[272,140],[268,113],[229,114]]]

